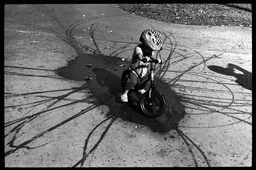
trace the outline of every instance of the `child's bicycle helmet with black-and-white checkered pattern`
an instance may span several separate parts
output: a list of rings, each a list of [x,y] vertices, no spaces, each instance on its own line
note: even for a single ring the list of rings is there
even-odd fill
[[[153,51],[160,51],[162,49],[162,37],[160,33],[154,29],[147,29],[143,31],[139,41]]]

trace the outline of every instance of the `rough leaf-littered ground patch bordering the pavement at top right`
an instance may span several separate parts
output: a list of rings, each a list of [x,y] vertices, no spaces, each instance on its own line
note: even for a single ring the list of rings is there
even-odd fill
[[[118,4],[124,11],[159,21],[252,27],[252,4]]]

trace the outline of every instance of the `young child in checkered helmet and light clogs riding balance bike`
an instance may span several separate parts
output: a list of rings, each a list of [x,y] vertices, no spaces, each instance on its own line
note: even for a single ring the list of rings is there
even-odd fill
[[[158,31],[154,29],[143,31],[139,41],[142,43],[137,45],[134,49],[132,63],[128,68],[130,70],[128,80],[126,81],[125,90],[121,94],[121,101],[123,102],[128,102],[128,91],[137,84],[137,78],[141,79],[146,75],[149,64],[148,61],[158,60],[158,64],[162,63],[161,59],[156,58],[154,55],[154,51],[162,50],[162,38]],[[145,87],[139,90],[139,93],[145,93],[149,85],[150,82],[148,81]]]

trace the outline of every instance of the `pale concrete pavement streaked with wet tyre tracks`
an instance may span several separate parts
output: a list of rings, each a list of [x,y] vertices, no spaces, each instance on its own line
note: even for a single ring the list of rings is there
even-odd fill
[[[5,5],[5,166],[251,166],[252,29],[116,6]],[[156,119],[119,99],[120,65],[148,28],[164,39],[156,85],[168,107]]]

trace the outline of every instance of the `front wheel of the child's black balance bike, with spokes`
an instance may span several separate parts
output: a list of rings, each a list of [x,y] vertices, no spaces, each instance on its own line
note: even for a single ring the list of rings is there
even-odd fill
[[[141,96],[140,107],[146,117],[159,117],[166,108],[165,98],[158,91],[151,91],[151,98],[149,98],[149,91],[147,91]]]

